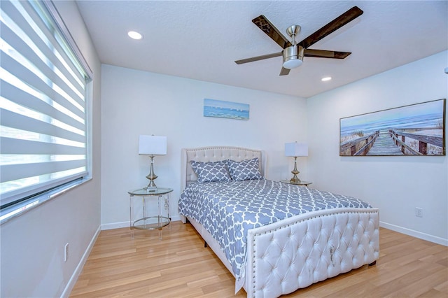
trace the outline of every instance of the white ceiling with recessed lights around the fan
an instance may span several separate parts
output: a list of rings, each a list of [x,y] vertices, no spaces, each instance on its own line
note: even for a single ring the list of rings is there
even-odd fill
[[[448,48],[448,1],[77,1],[104,64],[171,76],[311,97]],[[304,57],[279,76],[281,52],[251,22],[265,15],[284,36],[302,41],[352,6],[363,15],[310,48],[352,52],[346,59]],[[140,41],[127,36],[134,29]],[[447,65],[440,66],[443,71]],[[332,80],[322,82],[321,78]]]

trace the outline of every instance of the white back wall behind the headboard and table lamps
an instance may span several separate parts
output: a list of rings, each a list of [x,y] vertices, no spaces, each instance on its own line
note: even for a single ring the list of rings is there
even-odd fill
[[[207,118],[204,98],[250,105],[249,120]],[[167,136],[168,152],[155,157],[155,180],[174,189],[179,219],[181,148],[241,146],[266,150],[267,178],[290,178],[293,160],[284,143],[307,139],[306,99],[102,65],[102,227],[129,225],[127,191],[144,187],[149,158],[138,155],[140,134]],[[306,159],[299,171],[307,178]]]

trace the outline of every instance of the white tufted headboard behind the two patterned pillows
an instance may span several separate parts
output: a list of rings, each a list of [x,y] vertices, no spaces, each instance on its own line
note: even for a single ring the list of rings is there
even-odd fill
[[[230,146],[213,146],[201,148],[183,148],[181,150],[181,191],[185,187],[197,180],[197,175],[193,171],[190,161],[196,162],[219,162],[225,159],[233,159],[235,162],[241,162],[244,159],[253,159],[258,157],[258,166],[260,173],[265,176],[266,157],[262,150],[253,150]]]

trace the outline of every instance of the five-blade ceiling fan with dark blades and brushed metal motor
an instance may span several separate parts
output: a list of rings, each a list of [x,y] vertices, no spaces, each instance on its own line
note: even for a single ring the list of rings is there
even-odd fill
[[[333,58],[333,59],[344,59],[351,52],[336,52],[332,50],[314,50],[309,49],[311,45],[320,41],[328,34],[336,31],[341,28],[345,24],[348,24],[352,20],[355,20],[356,17],[359,17],[363,14],[363,10],[360,10],[358,6],[353,6],[339,17],[336,17],[335,20],[332,20],[321,29],[318,29],[316,32],[304,38],[304,40],[297,43],[295,41],[295,36],[300,33],[299,25],[291,25],[286,29],[286,33],[292,41],[288,41],[285,36],[283,36],[279,29],[276,29],[274,25],[267,20],[267,17],[264,15],[260,15],[259,17],[255,17],[252,22],[260,28],[267,36],[272,38],[273,41],[278,43],[283,50],[281,52],[276,52],[274,54],[262,55],[257,57],[251,57],[247,59],[241,59],[235,61],[237,64],[243,64],[248,62],[254,62],[262,59],[269,59],[272,57],[279,57],[283,55],[283,65],[281,67],[280,76],[286,76],[290,69],[294,69],[302,65],[303,57],[318,57],[318,58]]]

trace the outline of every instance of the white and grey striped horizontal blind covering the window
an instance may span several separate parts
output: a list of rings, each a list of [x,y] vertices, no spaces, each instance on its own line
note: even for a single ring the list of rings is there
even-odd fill
[[[3,208],[87,175],[90,77],[41,1],[0,2]]]

